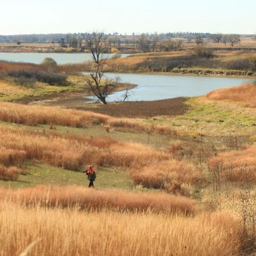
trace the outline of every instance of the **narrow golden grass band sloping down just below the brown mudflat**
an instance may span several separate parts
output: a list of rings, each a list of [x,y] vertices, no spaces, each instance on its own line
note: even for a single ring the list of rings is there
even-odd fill
[[[0,102],[0,120],[24,125],[54,124],[69,127],[84,127],[86,125],[110,125],[111,127],[131,128],[135,131],[148,131],[144,125],[133,119],[117,119],[108,115],[90,111],[71,110],[60,107],[26,106],[11,102]],[[172,134],[169,127],[153,126],[152,132]]]

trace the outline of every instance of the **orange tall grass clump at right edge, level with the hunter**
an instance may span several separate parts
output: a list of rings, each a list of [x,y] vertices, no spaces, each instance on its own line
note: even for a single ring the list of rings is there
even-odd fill
[[[220,153],[210,158],[209,167],[226,181],[256,181],[256,144],[245,150]]]

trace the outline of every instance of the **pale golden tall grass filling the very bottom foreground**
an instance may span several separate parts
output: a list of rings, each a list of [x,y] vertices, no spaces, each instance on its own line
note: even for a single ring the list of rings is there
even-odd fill
[[[186,218],[2,204],[0,226],[1,255],[235,256],[241,246],[240,221],[226,212]]]

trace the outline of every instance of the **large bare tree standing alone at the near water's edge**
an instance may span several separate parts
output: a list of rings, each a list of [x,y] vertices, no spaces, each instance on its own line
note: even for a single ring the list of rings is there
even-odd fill
[[[106,104],[106,97],[113,92],[117,82],[111,81],[104,77],[104,69],[106,64],[106,57],[104,52],[107,49],[107,38],[103,32],[93,32],[86,36],[86,46],[92,53],[92,71],[90,78],[87,79],[90,91],[100,100]]]

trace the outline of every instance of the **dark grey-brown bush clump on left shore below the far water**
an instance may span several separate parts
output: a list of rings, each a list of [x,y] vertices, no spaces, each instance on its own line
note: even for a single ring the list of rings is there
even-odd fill
[[[18,81],[22,80],[24,83],[25,81],[30,83],[43,82],[51,85],[63,84],[67,79],[66,75],[60,73],[51,73],[33,69],[13,70],[9,71],[8,75],[15,77]]]

